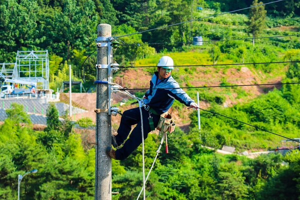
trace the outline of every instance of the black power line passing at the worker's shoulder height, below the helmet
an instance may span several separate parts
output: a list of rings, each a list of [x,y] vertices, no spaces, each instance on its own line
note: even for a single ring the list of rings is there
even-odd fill
[[[283,85],[283,84],[300,84],[300,82],[281,82],[281,83],[262,83],[262,84],[236,84],[236,85],[212,85],[212,86],[193,86],[193,87],[168,87],[168,88],[151,88],[151,89],[186,89],[186,88],[211,88],[211,87],[238,87],[238,86],[259,86],[259,85]],[[118,90],[147,90],[149,88],[127,88],[123,87]]]

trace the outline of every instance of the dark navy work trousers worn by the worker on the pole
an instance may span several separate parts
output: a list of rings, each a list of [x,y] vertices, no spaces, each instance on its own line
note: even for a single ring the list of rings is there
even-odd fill
[[[144,139],[147,138],[148,133],[151,131],[149,125],[149,111],[141,107],[142,110],[142,120],[143,120],[143,135]],[[157,126],[160,115],[155,115],[151,113],[151,117],[154,122],[154,127]],[[137,124],[129,135],[129,138],[125,141],[123,146],[115,151],[116,159],[125,159],[130,155],[130,153],[141,144],[141,120],[139,107],[125,110],[121,117],[120,126],[117,129],[117,135],[115,135],[116,143],[118,145],[122,144],[127,138],[131,125]]]

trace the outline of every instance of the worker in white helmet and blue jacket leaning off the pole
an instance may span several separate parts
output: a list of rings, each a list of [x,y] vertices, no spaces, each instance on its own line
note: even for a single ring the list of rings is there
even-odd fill
[[[143,96],[145,106],[141,107],[142,125],[144,139],[148,133],[156,127],[160,115],[166,112],[172,105],[174,99],[179,100],[186,106],[197,109],[198,105],[181,89],[179,84],[171,76],[174,69],[173,60],[169,56],[162,56],[157,63],[157,71],[154,72],[150,80],[150,88]],[[157,89],[156,89],[157,88]],[[153,121],[153,126],[149,124],[149,119]],[[126,140],[131,125],[137,124]],[[113,159],[122,160],[130,155],[142,142],[141,140],[141,118],[139,107],[125,110],[122,114],[117,135],[111,136],[111,144],[120,148],[114,150],[112,147],[106,148],[106,153]]]

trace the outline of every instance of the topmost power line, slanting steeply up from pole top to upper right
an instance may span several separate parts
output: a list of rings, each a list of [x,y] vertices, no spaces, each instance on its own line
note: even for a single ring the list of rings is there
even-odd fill
[[[183,21],[183,22],[179,22],[179,23],[174,23],[174,24],[170,24],[170,25],[160,26],[160,27],[157,27],[157,28],[151,28],[151,29],[142,30],[142,31],[139,31],[139,32],[133,32],[133,33],[124,34],[124,35],[120,35],[120,36],[114,36],[114,37],[115,38],[119,38],[119,37],[129,36],[129,35],[133,35],[133,34],[139,34],[139,33],[147,32],[147,31],[156,30],[156,29],[159,29],[159,28],[166,28],[166,27],[170,27],[170,26],[174,26],[174,25],[180,25],[182,23],[188,23],[188,22],[191,22],[191,21],[196,21],[196,20],[201,20],[201,19],[205,19],[205,18],[210,18],[210,17],[222,15],[222,14],[237,12],[237,11],[240,11],[240,10],[249,9],[249,8],[252,8],[252,7],[257,7],[257,6],[266,5],[266,4],[270,4],[270,3],[275,3],[275,2],[279,2],[279,1],[283,1],[283,0],[271,1],[271,2],[268,2],[268,3],[262,3],[262,4],[258,4],[258,5],[253,5],[253,6],[250,6],[250,7],[245,7],[245,8],[241,8],[241,9],[232,10],[232,11],[229,11],[229,12],[222,12],[222,13],[219,13],[219,14],[209,15],[209,16],[205,16],[205,17],[201,17],[201,18],[197,18],[197,19],[191,19],[191,20],[188,20],[188,21]]]

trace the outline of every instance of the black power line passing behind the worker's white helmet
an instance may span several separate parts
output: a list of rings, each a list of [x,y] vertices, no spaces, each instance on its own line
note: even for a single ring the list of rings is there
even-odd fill
[[[292,62],[300,62],[300,60],[275,61],[275,62],[226,63],[226,64],[185,64],[185,65],[174,65],[174,66],[222,66],[222,65],[273,64],[273,63],[292,63]],[[119,66],[119,68],[137,68],[137,67],[157,67],[157,66],[156,65],[150,65],[150,66]]]

